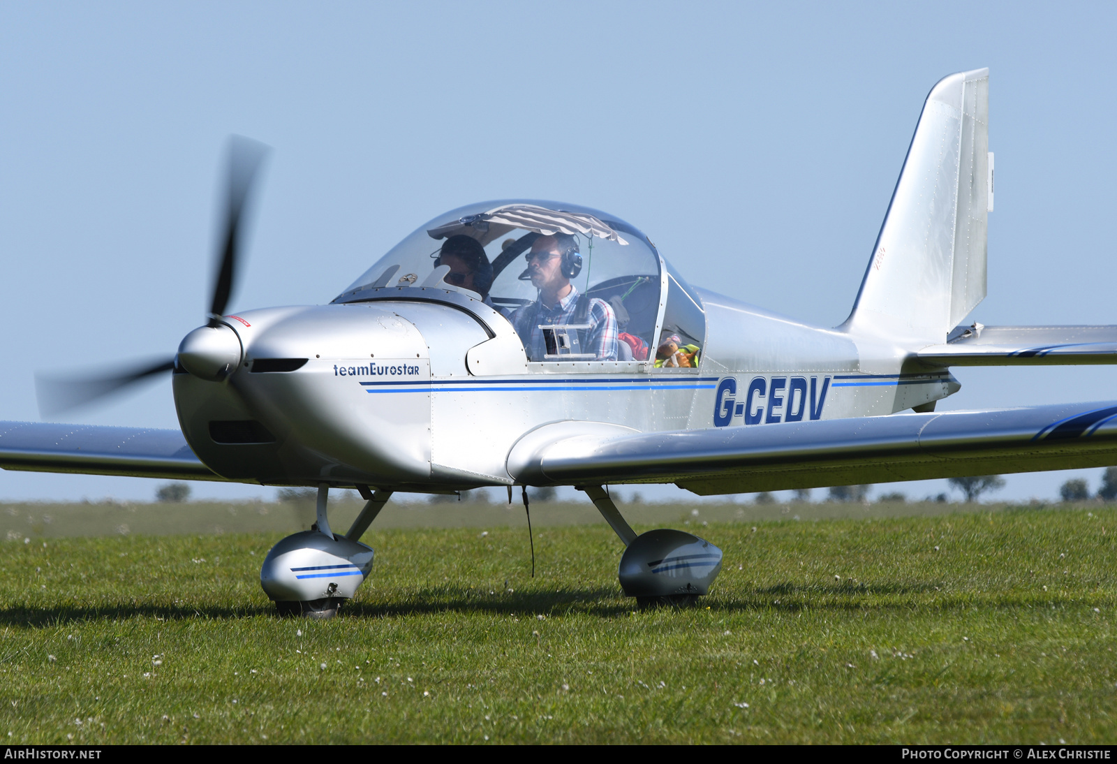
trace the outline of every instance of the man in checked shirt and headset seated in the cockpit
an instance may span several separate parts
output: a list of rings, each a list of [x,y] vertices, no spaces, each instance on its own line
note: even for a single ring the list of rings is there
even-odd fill
[[[569,233],[541,236],[532,242],[526,257],[527,275],[540,296],[516,309],[508,319],[527,347],[528,357],[542,361],[544,355],[562,353],[553,346],[554,337],[548,341],[544,336],[542,326],[550,324],[570,325],[574,330],[566,336],[576,346],[565,348],[567,353],[583,355],[583,360],[592,353],[594,361],[615,361],[617,315],[612,307],[603,299],[580,294],[570,283],[582,270],[577,239]]]

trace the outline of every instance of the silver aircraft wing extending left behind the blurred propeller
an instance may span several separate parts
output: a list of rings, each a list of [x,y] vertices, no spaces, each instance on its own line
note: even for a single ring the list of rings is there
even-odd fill
[[[32,472],[225,480],[179,430],[0,421],[0,467]]]

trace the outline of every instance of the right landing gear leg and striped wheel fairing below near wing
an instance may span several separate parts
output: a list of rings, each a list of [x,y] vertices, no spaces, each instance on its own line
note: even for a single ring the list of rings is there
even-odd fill
[[[691,605],[722,572],[722,550],[682,531],[656,528],[639,536],[602,486],[577,486],[593,499],[605,522],[624,542],[618,570],[621,589],[640,608]]]

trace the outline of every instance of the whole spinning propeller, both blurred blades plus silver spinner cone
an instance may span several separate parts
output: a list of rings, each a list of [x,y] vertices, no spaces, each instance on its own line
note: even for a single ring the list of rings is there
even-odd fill
[[[252,190],[268,146],[240,135],[229,139],[228,188],[225,219],[218,239],[217,274],[213,298],[210,302],[209,322],[183,338],[179,347],[182,366],[197,376],[221,380],[240,361],[240,341],[236,333],[221,324],[220,318],[236,286],[237,261],[245,228],[245,210],[251,201]],[[126,388],[174,369],[174,359],[161,359],[133,367],[123,373],[51,378],[36,374],[36,395],[44,417],[93,403]]]

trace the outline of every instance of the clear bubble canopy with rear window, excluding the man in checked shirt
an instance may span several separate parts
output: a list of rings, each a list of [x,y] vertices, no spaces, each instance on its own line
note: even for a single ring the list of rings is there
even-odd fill
[[[385,287],[437,286],[480,296],[506,318],[514,317],[541,296],[529,278],[527,256],[533,242],[556,235],[567,242],[573,240],[581,257],[581,267],[570,278],[571,285],[579,294],[609,306],[607,313],[615,321],[615,332],[622,338],[619,352],[605,352],[603,357],[599,352],[595,360],[651,360],[658,344],[657,332],[701,343],[705,315],[700,300],[675,269],[666,266],[648,237],[605,212],[552,201],[479,202],[440,214],[376,260],[338,299],[349,302],[354,292]],[[439,257],[450,239],[454,239],[451,245],[460,248],[460,237],[477,242],[465,241],[466,249],[471,251],[468,267],[452,255],[445,262]],[[447,245],[448,252],[451,245]],[[485,260],[480,259],[481,250]],[[668,304],[667,317],[674,318],[672,325],[660,326],[665,318],[661,307],[680,300],[687,303],[681,312],[684,321],[674,318],[680,312]],[[596,308],[599,314],[605,308]],[[624,342],[632,347],[627,350]],[[548,348],[561,353],[561,348],[550,345]],[[546,357],[531,360],[554,360],[550,351]]]

